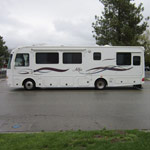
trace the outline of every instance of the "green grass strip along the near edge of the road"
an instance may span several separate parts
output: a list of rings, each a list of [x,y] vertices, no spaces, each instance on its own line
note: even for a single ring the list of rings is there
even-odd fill
[[[150,132],[60,131],[0,134],[0,150],[150,150]]]

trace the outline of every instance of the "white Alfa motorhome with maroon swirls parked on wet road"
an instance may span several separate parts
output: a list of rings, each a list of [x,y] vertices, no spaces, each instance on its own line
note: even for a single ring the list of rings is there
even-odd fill
[[[8,63],[11,87],[137,86],[144,83],[144,48],[21,47],[11,52]]]

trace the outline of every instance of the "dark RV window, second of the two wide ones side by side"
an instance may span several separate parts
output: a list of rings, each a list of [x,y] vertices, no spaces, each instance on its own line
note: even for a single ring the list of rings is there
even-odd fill
[[[63,53],[64,64],[81,64],[82,53]]]

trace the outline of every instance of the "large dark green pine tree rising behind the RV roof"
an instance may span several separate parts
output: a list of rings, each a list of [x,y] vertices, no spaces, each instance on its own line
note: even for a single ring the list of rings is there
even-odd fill
[[[98,45],[140,45],[139,36],[148,27],[144,20],[142,3],[136,7],[134,0],[99,0],[104,5],[102,16],[95,16],[94,38]],[[143,21],[144,20],[144,21]]]

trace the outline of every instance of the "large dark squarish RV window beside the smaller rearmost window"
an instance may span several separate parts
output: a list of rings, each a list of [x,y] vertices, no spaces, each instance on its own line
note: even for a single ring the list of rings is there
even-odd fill
[[[131,65],[131,53],[117,53],[117,65]]]

